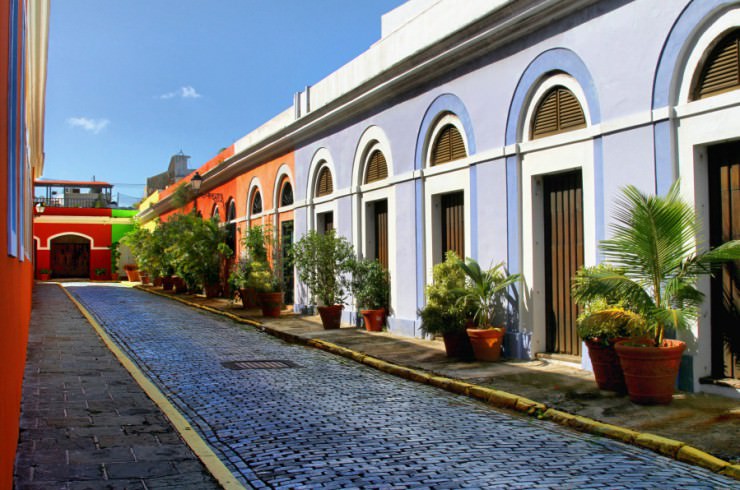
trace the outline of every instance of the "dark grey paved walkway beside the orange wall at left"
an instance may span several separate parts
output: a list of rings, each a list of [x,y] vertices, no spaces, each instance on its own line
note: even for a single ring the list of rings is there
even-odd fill
[[[64,291],[33,301],[15,488],[219,488]]]

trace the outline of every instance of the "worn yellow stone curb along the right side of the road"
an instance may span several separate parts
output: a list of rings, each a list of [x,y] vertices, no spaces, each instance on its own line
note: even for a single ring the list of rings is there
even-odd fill
[[[557,410],[555,408],[547,407],[547,405],[543,403],[529,400],[519,395],[513,395],[511,393],[496,390],[494,388],[487,388],[485,386],[466,383],[458,379],[448,378],[446,376],[439,376],[418,369],[390,363],[377,357],[363,354],[361,352],[357,352],[352,349],[327,342],[325,340],[307,339],[296,334],[283,332],[268,327],[262,323],[253,320],[247,320],[246,318],[233,315],[223,310],[199,305],[183,298],[178,298],[168,294],[160,293],[158,291],[153,291],[150,288],[142,288],[141,286],[134,287],[136,289],[141,289],[142,291],[147,291],[149,293],[163,296],[165,298],[173,298],[181,303],[232,318],[239,323],[246,323],[255,326],[274,337],[278,337],[290,343],[321,349],[323,351],[352,359],[359,363],[365,364],[366,366],[375,368],[379,371],[393,374],[395,376],[408,379],[410,381],[428,384],[437,388],[441,388],[443,390],[450,391],[452,393],[474,398],[496,408],[514,410],[532,417],[536,417],[538,419],[550,420],[559,425],[570,427],[571,429],[578,430],[580,432],[585,432],[587,434],[593,434],[601,437],[608,437],[610,439],[615,439],[626,444],[649,449],[663,456],[667,456],[669,458],[676,459],[684,463],[701,466],[715,473],[720,473],[724,476],[740,481],[740,465],[730,464],[723,459],[719,459],[707,452],[689,446],[688,444],[681,441],[676,441],[674,439],[669,439],[667,437],[662,437],[656,434],[637,432],[624,427],[598,422],[588,417],[574,415],[568,412]]]

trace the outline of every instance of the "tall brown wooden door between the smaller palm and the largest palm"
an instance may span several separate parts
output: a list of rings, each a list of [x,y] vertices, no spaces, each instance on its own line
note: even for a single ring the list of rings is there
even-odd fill
[[[576,334],[579,310],[570,297],[570,285],[583,265],[581,171],[548,175],[543,184],[547,351],[580,356],[581,341]]]

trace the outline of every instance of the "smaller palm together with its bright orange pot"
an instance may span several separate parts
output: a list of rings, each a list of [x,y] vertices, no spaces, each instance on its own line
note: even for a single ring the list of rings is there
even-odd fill
[[[506,329],[497,313],[503,311],[506,290],[519,281],[519,274],[507,274],[500,262],[483,270],[477,261],[467,258],[458,261],[467,276],[464,294],[460,298],[475,309],[474,319],[478,328],[468,328],[468,337],[475,358],[479,361],[497,361],[501,357],[501,344]]]

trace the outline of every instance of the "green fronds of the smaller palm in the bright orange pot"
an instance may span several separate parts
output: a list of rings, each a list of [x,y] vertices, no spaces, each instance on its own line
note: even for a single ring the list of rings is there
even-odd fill
[[[474,318],[480,328],[492,328],[504,321],[504,303],[510,302],[506,292],[519,281],[519,274],[508,274],[503,262],[489,270],[481,269],[480,264],[470,257],[465,262],[458,260],[458,267],[467,277],[459,301],[475,310]]]

